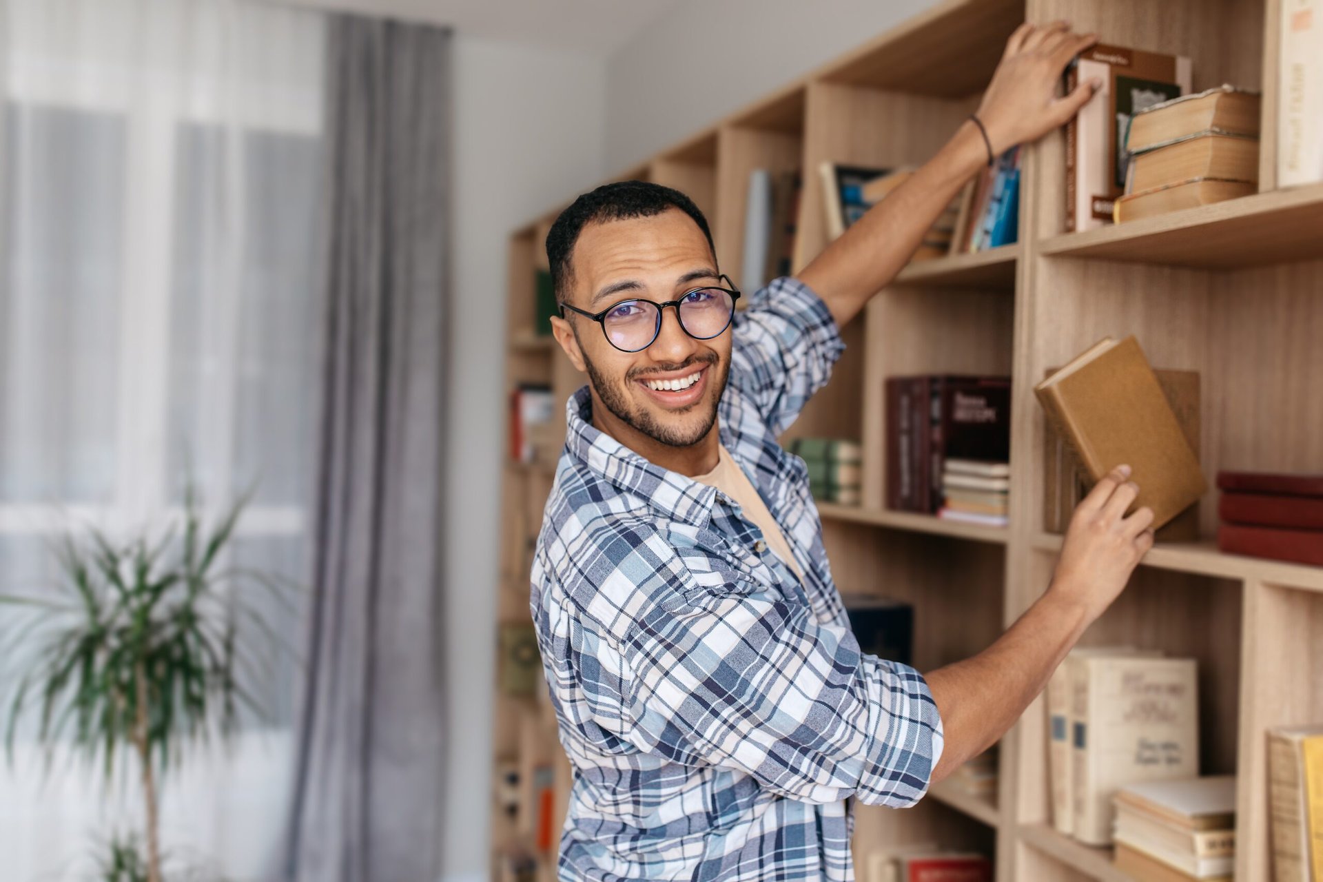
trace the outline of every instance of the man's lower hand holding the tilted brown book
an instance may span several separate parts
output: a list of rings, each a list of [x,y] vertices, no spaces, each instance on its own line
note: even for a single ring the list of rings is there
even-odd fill
[[[1129,479],[1130,467],[1118,465],[1080,502],[1052,577],[1049,591],[1078,603],[1086,621],[1111,606],[1154,543],[1152,509],[1143,506],[1126,517],[1139,493]]]

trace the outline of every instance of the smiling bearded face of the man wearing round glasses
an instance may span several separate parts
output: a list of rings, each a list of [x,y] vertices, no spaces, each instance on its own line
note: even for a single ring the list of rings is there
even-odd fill
[[[566,303],[593,313],[631,298],[663,303],[693,288],[722,284],[706,237],[679,209],[585,226],[572,267]],[[668,307],[652,345],[620,352],[601,324],[573,312],[566,316],[553,319],[556,336],[618,421],[668,447],[688,447],[708,435],[730,369],[730,328],[712,340],[695,340]],[[650,385],[683,383],[695,374],[697,381],[680,390]]]

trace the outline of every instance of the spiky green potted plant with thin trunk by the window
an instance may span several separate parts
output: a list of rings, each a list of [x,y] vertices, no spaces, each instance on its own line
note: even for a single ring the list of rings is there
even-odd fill
[[[107,878],[144,874],[161,882],[159,775],[179,763],[185,746],[220,735],[230,741],[238,709],[266,715],[237,680],[250,664],[239,621],[278,641],[246,606],[258,588],[282,598],[284,581],[221,569],[226,543],[251,492],[209,529],[192,485],[185,491],[183,532],[167,529],[116,545],[105,533],[66,536],[57,549],[61,579],[38,596],[0,595],[29,619],[0,656],[26,660],[5,702],[5,747],[13,763],[20,718],[37,717],[48,756],[57,743],[101,760],[106,780],[127,754],[136,764],[146,816],[146,854],[126,840],[111,842]],[[93,763],[89,763],[91,766]],[[135,842],[136,840],[127,840]]]

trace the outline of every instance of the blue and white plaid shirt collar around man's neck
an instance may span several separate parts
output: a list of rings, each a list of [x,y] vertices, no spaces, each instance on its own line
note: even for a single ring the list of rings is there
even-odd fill
[[[717,488],[656,463],[593,426],[593,397],[587,386],[565,402],[565,450],[597,477],[644,499],[658,514],[706,528]],[[722,427],[724,428],[724,427]]]

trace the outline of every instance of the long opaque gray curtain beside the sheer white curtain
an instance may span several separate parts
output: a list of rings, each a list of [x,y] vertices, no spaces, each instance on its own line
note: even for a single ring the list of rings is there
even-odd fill
[[[442,829],[450,32],[331,16],[314,595],[287,875],[427,882]]]

